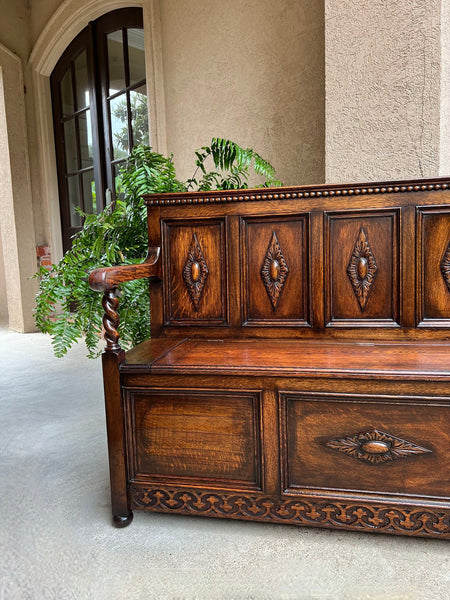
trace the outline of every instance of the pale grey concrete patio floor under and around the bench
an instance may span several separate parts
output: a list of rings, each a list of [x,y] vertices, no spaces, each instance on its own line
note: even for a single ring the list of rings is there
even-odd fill
[[[1,600],[445,600],[448,542],[136,513],[110,524],[100,361],[0,332]]]

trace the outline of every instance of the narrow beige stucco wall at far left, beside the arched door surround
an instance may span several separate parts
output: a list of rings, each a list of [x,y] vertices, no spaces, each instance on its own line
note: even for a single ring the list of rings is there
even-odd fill
[[[27,0],[2,3],[0,26],[0,321],[16,331],[34,329],[36,281],[29,138],[33,129]],[[25,93],[25,88],[28,95]]]

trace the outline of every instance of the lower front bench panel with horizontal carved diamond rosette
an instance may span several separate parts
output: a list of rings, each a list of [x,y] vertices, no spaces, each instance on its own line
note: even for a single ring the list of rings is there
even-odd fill
[[[282,404],[283,487],[289,492],[448,494],[448,398],[285,393]]]

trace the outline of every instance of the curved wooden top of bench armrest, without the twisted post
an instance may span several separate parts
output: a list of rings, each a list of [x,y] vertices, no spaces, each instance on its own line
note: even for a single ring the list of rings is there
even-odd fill
[[[96,292],[114,290],[121,283],[142,279],[143,277],[160,277],[161,248],[155,246],[149,249],[145,261],[138,265],[122,265],[120,267],[103,267],[95,269],[89,275],[89,287]]]

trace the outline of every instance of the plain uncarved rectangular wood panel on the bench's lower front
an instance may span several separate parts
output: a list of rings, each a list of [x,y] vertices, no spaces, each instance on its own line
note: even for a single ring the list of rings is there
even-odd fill
[[[130,478],[259,489],[257,392],[129,390]]]

